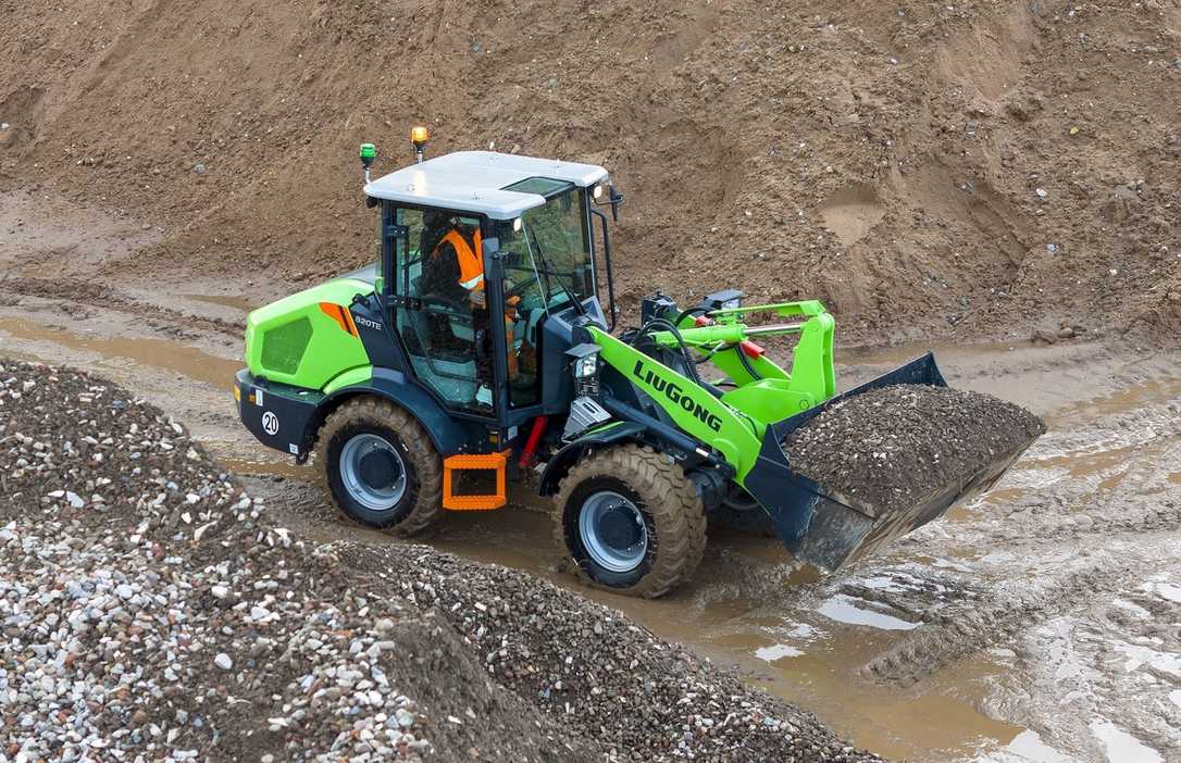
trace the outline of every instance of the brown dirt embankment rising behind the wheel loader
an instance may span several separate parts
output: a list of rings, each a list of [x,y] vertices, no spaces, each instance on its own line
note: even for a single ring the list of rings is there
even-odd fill
[[[1181,335],[1175,0],[0,8],[0,189],[139,219],[156,279],[367,261],[355,146],[393,169],[425,120],[432,154],[611,168],[628,299],[818,296],[847,338]]]

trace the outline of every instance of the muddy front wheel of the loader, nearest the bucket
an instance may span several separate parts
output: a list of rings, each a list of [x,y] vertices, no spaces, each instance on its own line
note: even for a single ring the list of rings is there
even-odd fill
[[[578,463],[554,498],[554,536],[587,582],[654,599],[693,576],[705,553],[705,513],[668,456],[638,445]]]

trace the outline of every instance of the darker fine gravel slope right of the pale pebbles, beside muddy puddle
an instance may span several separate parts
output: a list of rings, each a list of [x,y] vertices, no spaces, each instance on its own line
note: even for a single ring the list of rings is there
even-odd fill
[[[876,761],[622,613],[431,549],[329,547],[374,588],[436,609],[489,674],[626,761]]]

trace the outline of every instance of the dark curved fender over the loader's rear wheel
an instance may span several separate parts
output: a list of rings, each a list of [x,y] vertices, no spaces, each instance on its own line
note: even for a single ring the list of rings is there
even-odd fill
[[[307,424],[305,442],[312,442],[328,413],[358,394],[384,398],[413,416],[443,457],[459,452],[470,439],[466,430],[418,383],[394,369],[373,369],[367,382],[335,390],[320,402],[317,416]]]

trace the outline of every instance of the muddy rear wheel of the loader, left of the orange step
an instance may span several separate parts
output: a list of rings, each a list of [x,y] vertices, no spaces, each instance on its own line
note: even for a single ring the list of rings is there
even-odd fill
[[[315,452],[333,503],[361,524],[415,535],[442,514],[438,451],[392,403],[348,400],[320,428]]]

